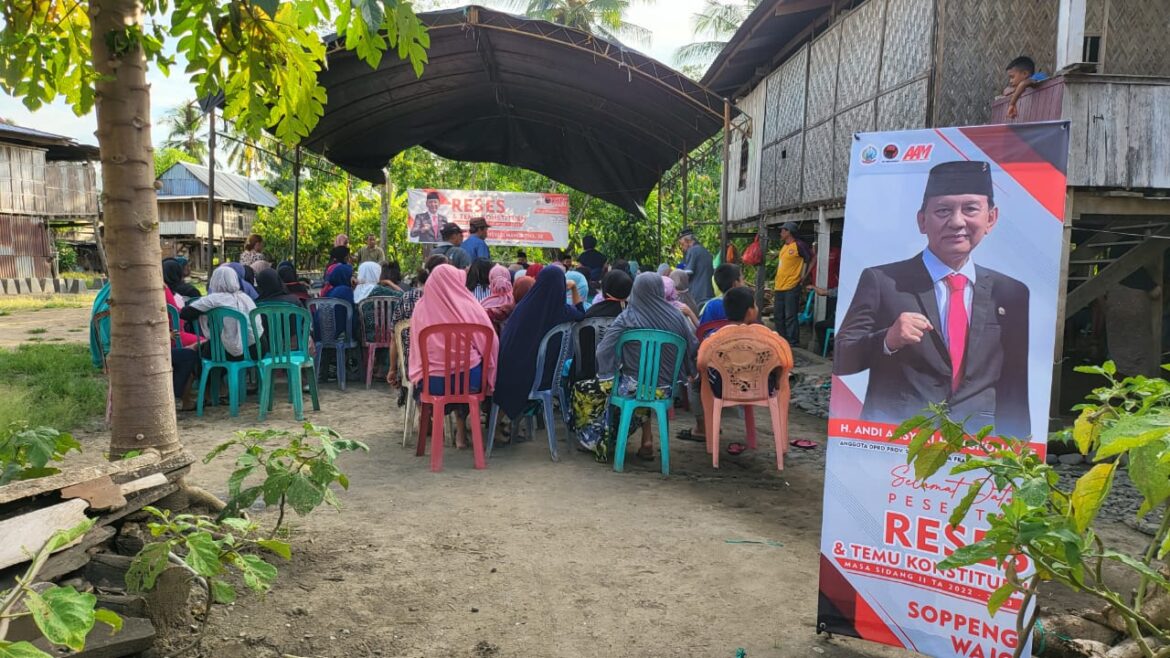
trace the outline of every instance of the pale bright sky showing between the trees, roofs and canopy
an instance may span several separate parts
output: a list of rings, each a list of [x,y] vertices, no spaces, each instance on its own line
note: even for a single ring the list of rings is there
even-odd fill
[[[431,0],[415,2],[421,11],[425,8],[460,7],[469,4],[461,0]],[[476,2],[491,8],[517,12],[516,4],[508,0],[480,0]],[[523,2],[521,2],[523,5]],[[629,43],[628,46],[661,61],[674,66],[674,52],[694,41],[691,36],[691,15],[703,6],[703,0],[658,0],[635,2],[626,19],[652,32],[648,44]],[[160,142],[166,137],[166,129],[160,125],[167,110],[194,97],[193,85],[183,74],[183,62],[172,67],[171,76],[166,77],[157,69],[150,69],[146,78],[151,84],[151,118],[154,124],[153,137]],[[424,73],[426,75],[426,73]],[[0,117],[12,119],[19,125],[34,128],[57,135],[73,137],[84,144],[97,144],[94,137],[96,122],[94,115],[78,117],[69,105],[57,101],[41,109],[29,111],[16,98],[0,91]]]

